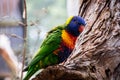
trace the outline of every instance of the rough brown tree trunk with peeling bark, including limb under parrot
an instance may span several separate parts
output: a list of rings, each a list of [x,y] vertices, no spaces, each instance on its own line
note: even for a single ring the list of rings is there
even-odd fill
[[[70,57],[33,80],[120,80],[120,0],[81,0],[87,25]]]

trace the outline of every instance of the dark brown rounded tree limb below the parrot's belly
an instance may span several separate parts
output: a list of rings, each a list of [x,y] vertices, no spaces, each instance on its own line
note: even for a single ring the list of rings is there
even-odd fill
[[[57,74],[57,75],[56,75]],[[47,79],[43,76],[47,75]],[[70,76],[70,77],[69,77]],[[33,80],[93,80],[86,72],[79,72],[77,70],[70,70],[64,66],[57,65],[45,69],[41,74],[37,75]]]

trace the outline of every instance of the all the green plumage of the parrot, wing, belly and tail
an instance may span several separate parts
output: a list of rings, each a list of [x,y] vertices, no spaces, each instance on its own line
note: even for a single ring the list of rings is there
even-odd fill
[[[65,29],[65,27],[65,25],[61,25],[48,32],[46,39],[28,65],[28,72],[23,80],[29,80],[29,78],[41,68],[58,63],[58,56],[53,54],[53,51],[59,48],[62,30]]]

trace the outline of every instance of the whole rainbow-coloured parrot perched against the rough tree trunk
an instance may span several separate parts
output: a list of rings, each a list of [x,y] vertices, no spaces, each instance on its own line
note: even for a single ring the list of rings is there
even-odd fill
[[[65,61],[74,49],[75,41],[85,25],[82,17],[70,16],[64,24],[50,30],[31,62],[23,70],[27,71],[23,80],[29,80],[40,69]]]

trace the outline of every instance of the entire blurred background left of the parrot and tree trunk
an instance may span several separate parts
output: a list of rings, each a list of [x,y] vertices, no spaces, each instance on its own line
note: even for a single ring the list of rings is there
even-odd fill
[[[68,17],[67,0],[26,0],[26,7],[25,17],[24,0],[0,0],[0,80],[19,80],[23,53],[27,65],[47,32]]]

